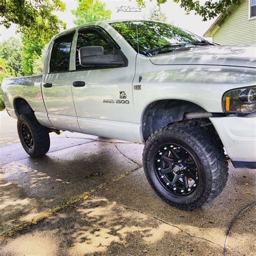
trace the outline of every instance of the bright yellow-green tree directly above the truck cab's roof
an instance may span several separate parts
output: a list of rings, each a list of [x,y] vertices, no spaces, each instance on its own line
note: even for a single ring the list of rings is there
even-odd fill
[[[81,25],[86,22],[103,21],[111,18],[111,10],[105,10],[106,4],[100,0],[78,0],[76,10],[72,10],[75,15],[75,24]]]

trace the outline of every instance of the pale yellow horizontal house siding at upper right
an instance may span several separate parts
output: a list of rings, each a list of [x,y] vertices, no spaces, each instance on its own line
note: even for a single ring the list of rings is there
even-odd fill
[[[256,18],[249,18],[249,1],[244,0],[212,36],[221,45],[256,46]]]

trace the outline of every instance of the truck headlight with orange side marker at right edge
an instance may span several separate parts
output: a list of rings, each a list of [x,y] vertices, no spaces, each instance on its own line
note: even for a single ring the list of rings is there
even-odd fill
[[[226,113],[252,113],[256,111],[256,86],[228,91],[223,96]]]

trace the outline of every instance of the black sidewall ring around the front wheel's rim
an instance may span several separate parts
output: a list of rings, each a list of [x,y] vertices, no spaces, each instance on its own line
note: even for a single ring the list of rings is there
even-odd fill
[[[163,145],[173,143],[184,147],[196,161],[199,180],[196,189],[187,196],[176,195],[167,188],[165,188],[159,180],[156,169],[154,167],[154,157],[156,156],[157,149]],[[194,205],[203,204],[207,200],[211,193],[212,186],[212,174],[208,166],[205,153],[201,149],[200,145],[185,133],[181,133],[175,130],[161,130],[160,133],[153,137],[153,140],[146,145],[144,153],[144,170],[151,185],[156,192],[164,198],[165,201],[173,205]]]

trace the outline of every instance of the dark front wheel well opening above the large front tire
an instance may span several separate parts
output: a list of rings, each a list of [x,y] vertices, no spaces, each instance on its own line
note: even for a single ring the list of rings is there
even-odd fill
[[[144,141],[155,131],[167,125],[187,120],[185,113],[192,112],[207,113],[202,107],[186,100],[168,99],[157,100],[151,103],[147,106],[142,118],[142,135]],[[198,122],[198,125],[204,127],[204,129],[207,129],[218,142],[221,142],[209,118],[197,118],[193,120],[194,122]]]

